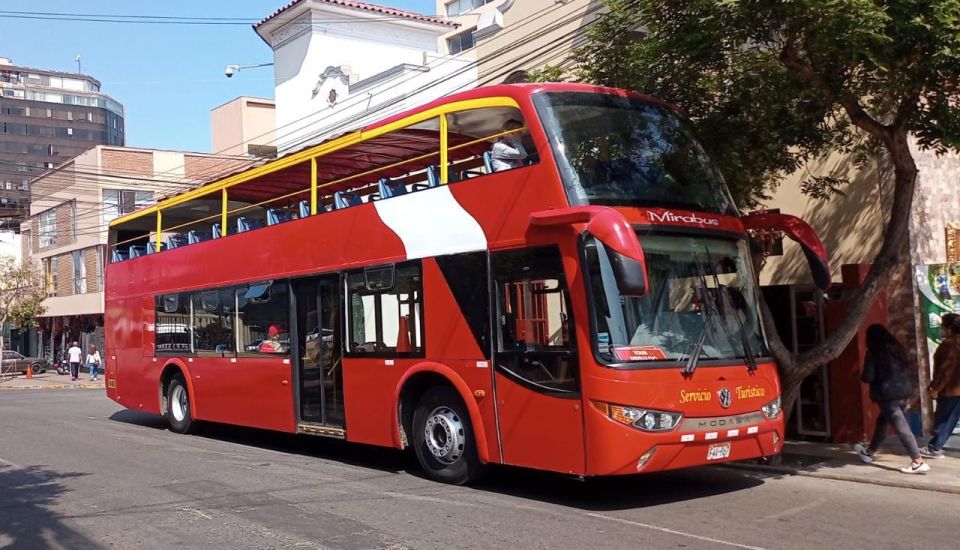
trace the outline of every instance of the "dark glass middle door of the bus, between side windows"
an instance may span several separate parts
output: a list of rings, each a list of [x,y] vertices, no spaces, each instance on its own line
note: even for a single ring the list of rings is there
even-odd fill
[[[303,422],[344,427],[340,276],[294,282],[299,414]]]

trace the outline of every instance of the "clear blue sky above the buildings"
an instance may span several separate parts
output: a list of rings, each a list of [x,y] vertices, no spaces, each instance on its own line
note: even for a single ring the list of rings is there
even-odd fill
[[[261,19],[289,0],[3,0],[6,11]],[[373,3],[432,14],[433,0]],[[273,97],[273,68],[226,78],[231,63],[273,61],[249,25],[148,25],[0,17],[0,56],[14,64],[83,72],[127,113],[127,145],[210,151],[210,109],[241,96]]]

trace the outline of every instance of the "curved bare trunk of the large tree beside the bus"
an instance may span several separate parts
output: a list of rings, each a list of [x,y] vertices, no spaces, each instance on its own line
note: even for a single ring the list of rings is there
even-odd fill
[[[909,251],[910,212],[917,184],[917,165],[910,152],[909,134],[906,129],[892,128],[884,138],[884,145],[894,167],[893,204],[884,230],[883,244],[863,284],[849,300],[850,309],[847,310],[837,328],[823,342],[799,355],[786,349],[775,330],[770,331],[770,351],[779,364],[783,410],[788,416],[793,411],[800,384],[817,367],[836,359],[843,353],[859,331],[864,317],[873,306],[877,293],[883,290],[893,269],[903,261],[901,258],[903,251]],[[909,252],[907,254],[909,255]],[[773,317],[765,303],[762,313],[766,325],[773,327]]]

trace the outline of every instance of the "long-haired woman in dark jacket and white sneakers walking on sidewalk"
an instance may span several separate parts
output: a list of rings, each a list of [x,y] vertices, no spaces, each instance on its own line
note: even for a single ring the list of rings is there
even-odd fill
[[[917,440],[910,432],[910,426],[903,414],[907,399],[913,395],[913,384],[908,374],[907,350],[883,325],[867,327],[867,357],[863,363],[860,379],[870,384],[870,399],[880,407],[880,416],[873,431],[869,447],[857,443],[854,449],[860,459],[867,464],[873,462],[873,454],[880,448],[887,436],[887,426],[892,425],[900,438],[910,464],[900,468],[905,474],[918,474],[930,470],[930,466],[920,456]]]

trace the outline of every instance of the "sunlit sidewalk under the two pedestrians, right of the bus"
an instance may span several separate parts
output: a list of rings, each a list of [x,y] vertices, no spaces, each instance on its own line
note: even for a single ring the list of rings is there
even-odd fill
[[[956,436],[952,438],[954,441]],[[949,451],[943,459],[928,459],[926,474],[904,474],[899,470],[910,462],[896,437],[888,438],[874,456],[873,464],[864,464],[853,445],[787,441],[780,464],[731,462],[725,467],[769,473],[800,475],[869,483],[903,489],[960,494],[960,453]]]

